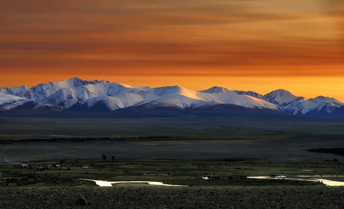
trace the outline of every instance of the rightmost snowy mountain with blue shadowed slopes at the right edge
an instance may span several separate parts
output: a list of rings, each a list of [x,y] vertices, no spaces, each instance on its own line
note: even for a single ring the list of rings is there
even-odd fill
[[[315,97],[307,100],[299,100],[292,106],[288,107],[286,111],[293,115],[316,115],[317,113],[331,113],[337,108],[344,105],[343,102],[330,97]]]

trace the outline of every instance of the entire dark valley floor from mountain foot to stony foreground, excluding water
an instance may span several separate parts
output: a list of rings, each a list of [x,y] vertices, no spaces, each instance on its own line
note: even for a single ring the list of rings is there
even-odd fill
[[[0,208],[73,208],[80,194],[85,209],[344,208],[344,187],[246,178],[343,181],[343,156],[305,151],[344,147],[343,122],[201,122],[0,117]],[[86,137],[107,138],[76,139]],[[190,187],[98,187],[80,178]]]

